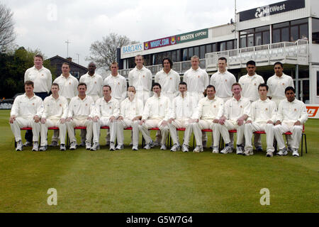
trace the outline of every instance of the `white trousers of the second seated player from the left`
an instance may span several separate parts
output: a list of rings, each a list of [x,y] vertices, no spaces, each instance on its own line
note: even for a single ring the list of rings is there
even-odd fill
[[[61,123],[58,118],[47,118],[45,123],[40,125],[41,146],[47,145],[47,128],[57,127],[59,128],[60,144],[65,144],[65,134],[67,133],[67,124]]]

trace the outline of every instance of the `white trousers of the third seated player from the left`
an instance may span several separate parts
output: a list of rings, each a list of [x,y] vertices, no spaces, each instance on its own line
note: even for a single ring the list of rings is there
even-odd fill
[[[92,126],[93,121],[88,120],[87,116],[76,116],[71,121],[67,122],[67,133],[69,134],[69,141],[77,142],[77,138],[74,135],[74,127],[85,126],[86,127],[86,140],[85,142],[91,143],[92,140]]]

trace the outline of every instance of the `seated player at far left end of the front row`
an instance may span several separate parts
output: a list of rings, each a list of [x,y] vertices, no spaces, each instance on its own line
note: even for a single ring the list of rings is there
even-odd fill
[[[33,93],[33,82],[24,83],[25,94],[21,94],[13,101],[9,123],[16,138],[16,150],[21,151],[23,143],[20,128],[32,127],[33,151],[39,149],[40,117],[43,114],[43,101]]]

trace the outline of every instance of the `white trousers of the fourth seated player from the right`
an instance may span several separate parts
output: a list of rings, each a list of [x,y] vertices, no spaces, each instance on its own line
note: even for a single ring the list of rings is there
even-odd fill
[[[213,123],[213,120],[209,120],[209,121],[199,120],[197,123],[193,123],[192,126],[193,126],[193,131],[194,131],[194,135],[196,139],[196,145],[199,145],[199,146],[203,145],[201,130],[212,129],[213,130],[213,146],[214,147],[219,146],[220,133],[218,131],[218,123]]]

